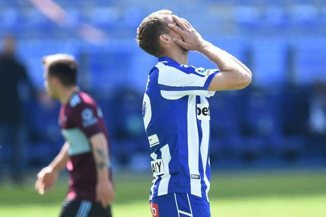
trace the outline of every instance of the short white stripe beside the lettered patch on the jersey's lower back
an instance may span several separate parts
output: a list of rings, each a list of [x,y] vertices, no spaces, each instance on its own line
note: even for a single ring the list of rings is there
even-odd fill
[[[161,176],[161,181],[158,185],[157,196],[167,194],[169,188],[169,181],[170,181],[170,170],[169,170],[169,163],[171,161],[171,153],[169,144],[160,148],[162,161],[164,165],[164,175]]]

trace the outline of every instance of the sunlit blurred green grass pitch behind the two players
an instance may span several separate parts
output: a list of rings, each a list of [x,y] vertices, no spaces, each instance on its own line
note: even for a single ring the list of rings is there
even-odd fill
[[[150,174],[116,175],[114,216],[151,216],[148,206],[150,181]],[[2,185],[0,216],[58,216],[65,182],[63,178],[55,190],[44,196],[37,195],[32,180],[21,188]],[[217,172],[212,176],[209,196],[212,216],[324,217],[326,171]]]

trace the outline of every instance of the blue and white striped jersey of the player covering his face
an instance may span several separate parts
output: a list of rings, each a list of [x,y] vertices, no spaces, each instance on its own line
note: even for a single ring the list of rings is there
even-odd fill
[[[187,193],[208,200],[210,113],[208,91],[219,70],[158,58],[144,94],[143,117],[151,148],[150,200]]]

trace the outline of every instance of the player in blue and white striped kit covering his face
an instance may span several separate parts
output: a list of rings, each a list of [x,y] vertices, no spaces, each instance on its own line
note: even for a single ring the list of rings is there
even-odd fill
[[[148,74],[143,101],[154,177],[149,197],[152,215],[210,216],[208,98],[217,90],[248,86],[252,73],[169,10],[146,17],[136,40],[144,51],[158,57]],[[219,70],[188,65],[191,50],[205,55]]]

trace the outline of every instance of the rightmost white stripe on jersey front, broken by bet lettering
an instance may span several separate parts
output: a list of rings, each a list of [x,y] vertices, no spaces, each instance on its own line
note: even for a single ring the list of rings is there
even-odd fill
[[[207,103],[208,101],[204,97],[200,97],[200,102],[201,103]],[[209,120],[202,120],[201,121],[201,127],[202,127],[202,132],[203,132],[203,137],[202,137],[202,142],[200,146],[200,153],[202,156],[202,162],[203,162],[203,169],[204,169],[204,181],[205,184],[207,185],[206,189],[206,196],[207,196],[207,201],[208,200],[208,191],[210,187],[209,180],[206,175],[206,166],[207,166],[207,157],[208,157],[208,144],[209,144]]]

